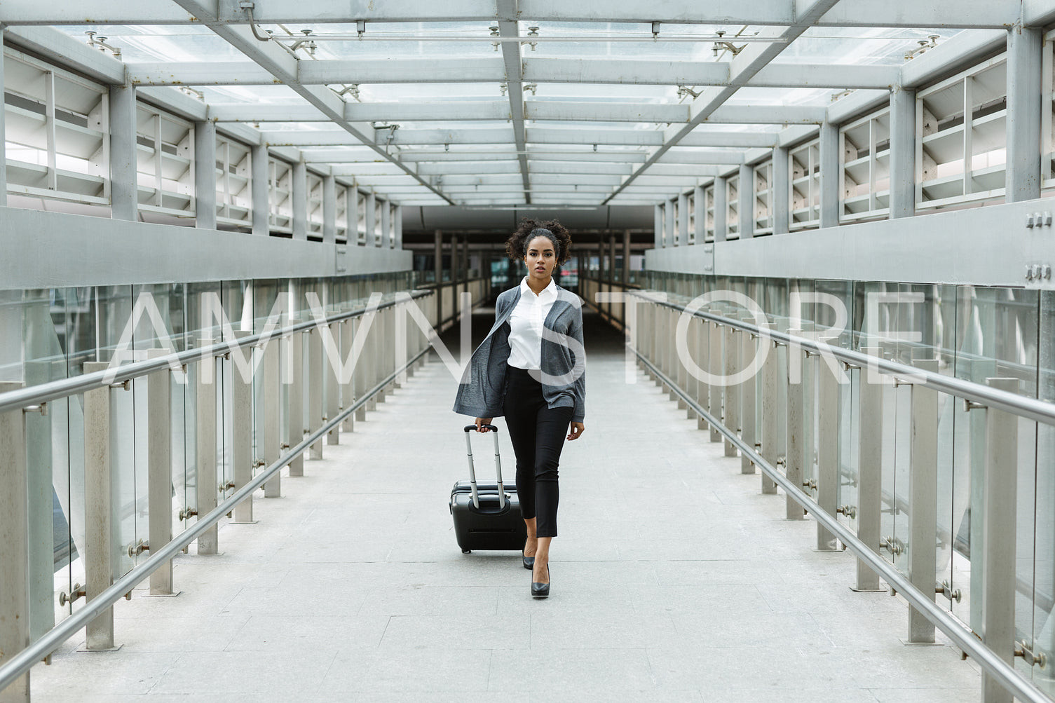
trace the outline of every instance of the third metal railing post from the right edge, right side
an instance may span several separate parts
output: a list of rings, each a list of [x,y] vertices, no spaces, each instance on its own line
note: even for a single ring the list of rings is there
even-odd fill
[[[878,346],[863,347],[862,353],[881,357],[882,349]],[[883,477],[883,385],[884,379],[879,378],[872,383],[868,378],[871,374],[862,368],[858,375],[861,390],[859,424],[859,458],[858,458],[858,538],[875,552],[879,552],[880,517],[882,511],[882,477]],[[864,562],[857,559],[857,586],[855,591],[878,591],[879,574],[869,569]]]

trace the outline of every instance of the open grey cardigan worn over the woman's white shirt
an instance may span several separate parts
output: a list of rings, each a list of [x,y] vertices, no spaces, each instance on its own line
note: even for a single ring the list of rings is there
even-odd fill
[[[510,316],[520,301],[520,286],[498,296],[495,324],[473,357],[458,385],[456,413],[502,417],[505,369],[510,358]],[[573,407],[572,422],[586,417],[586,352],[582,345],[582,302],[557,286],[557,300],[542,323],[542,397],[550,407]]]

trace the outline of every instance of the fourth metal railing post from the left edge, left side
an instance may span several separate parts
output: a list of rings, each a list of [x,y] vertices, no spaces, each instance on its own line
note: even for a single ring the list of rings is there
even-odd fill
[[[211,337],[198,340],[198,348],[212,346]],[[206,365],[211,366],[207,372]],[[87,372],[85,372],[87,373]],[[197,511],[198,519],[216,508],[216,357],[208,357],[198,363],[195,375],[195,458],[197,467]],[[216,554],[219,548],[219,527],[211,528],[198,537],[198,554]]]

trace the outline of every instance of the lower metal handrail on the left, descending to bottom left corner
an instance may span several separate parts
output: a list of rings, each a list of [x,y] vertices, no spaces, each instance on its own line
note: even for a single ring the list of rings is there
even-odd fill
[[[184,547],[197,539],[202,533],[218,522],[224,515],[234,510],[235,506],[252,495],[253,491],[264,486],[264,483],[266,483],[273,474],[279,472],[283,467],[287,466],[296,456],[303,454],[309,446],[322,439],[326,433],[338,426],[346,417],[366,404],[372,396],[377,395],[382,388],[395,381],[400,374],[409,368],[418,361],[418,359],[428,354],[430,349],[431,346],[429,345],[414,355],[414,357],[408,359],[405,364],[370,388],[359,400],[352,403],[350,407],[346,407],[335,418],[327,421],[326,424],[305,437],[304,440],[293,446],[288,454],[280,457],[277,461],[256,474],[251,481],[235,491],[230,498],[216,506],[216,508],[198,519],[193,527],[188,528],[178,536],[173,537],[169,544],[159,548],[156,552],[151,550],[150,557],[146,562],[129,571],[110,588],[106,589],[85,604],[85,606],[78,610],[75,614],[63,620],[60,625],[56,625],[39,640],[13,657],[7,664],[0,667],[0,691],[14,683],[18,677],[33,668],[37,662],[55,651],[59,645],[76,634],[77,630],[87,626],[93,620],[98,618],[102,611],[124,597],[126,593],[129,593],[141,581],[157,571],[157,569],[161,568],[162,564],[173,558],[178,552],[183,551]]]

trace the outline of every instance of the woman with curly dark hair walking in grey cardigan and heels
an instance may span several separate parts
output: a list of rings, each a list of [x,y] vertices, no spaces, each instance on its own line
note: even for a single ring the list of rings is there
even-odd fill
[[[473,353],[455,412],[476,416],[477,432],[505,417],[517,456],[517,493],[528,527],[523,565],[531,593],[550,594],[550,540],[557,536],[557,464],[568,432],[586,428],[586,353],[578,296],[553,280],[572,239],[560,223],[524,220],[505,243],[510,259],[528,265],[520,285],[502,292],[495,325]]]

